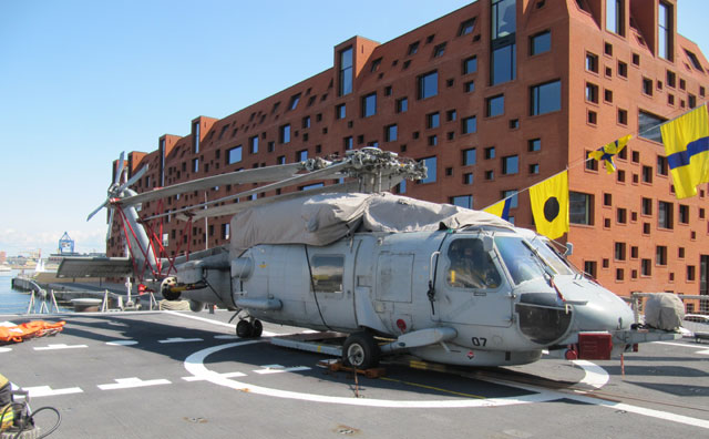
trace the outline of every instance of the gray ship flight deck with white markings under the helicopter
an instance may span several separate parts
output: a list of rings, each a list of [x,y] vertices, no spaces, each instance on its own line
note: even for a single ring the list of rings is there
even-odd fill
[[[644,344],[624,363],[500,368],[394,357],[367,378],[323,353],[242,339],[232,313],[68,314],[53,337],[0,346],[0,372],[56,408],[51,438],[697,437],[709,432],[709,344]],[[24,317],[0,316],[23,321]],[[51,412],[38,415],[51,427]]]

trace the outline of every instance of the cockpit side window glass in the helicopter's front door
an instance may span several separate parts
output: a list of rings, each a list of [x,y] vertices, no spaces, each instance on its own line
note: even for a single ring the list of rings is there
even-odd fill
[[[493,289],[500,286],[500,272],[477,238],[459,238],[448,247],[450,263],[446,282],[454,288]]]

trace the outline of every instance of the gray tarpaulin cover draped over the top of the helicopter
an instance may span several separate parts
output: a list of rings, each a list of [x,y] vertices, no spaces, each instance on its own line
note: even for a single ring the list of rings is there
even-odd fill
[[[232,218],[232,252],[257,244],[328,245],[350,232],[513,225],[486,212],[383,194],[322,194],[248,208]]]

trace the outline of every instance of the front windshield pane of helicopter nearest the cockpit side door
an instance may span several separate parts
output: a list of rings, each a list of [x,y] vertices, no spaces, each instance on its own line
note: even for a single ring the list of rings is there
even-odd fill
[[[549,269],[549,267],[523,238],[497,235],[495,236],[495,245],[515,284],[544,279],[545,269]]]

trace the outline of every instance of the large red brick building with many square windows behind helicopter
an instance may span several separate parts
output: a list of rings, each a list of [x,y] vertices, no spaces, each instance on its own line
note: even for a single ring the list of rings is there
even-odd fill
[[[707,187],[675,197],[654,127],[705,103],[709,86],[706,58],[677,34],[677,8],[481,0],[387,43],[354,37],[335,45],[331,69],[131,153],[132,172],[150,164],[135,190],[376,145],[427,162],[428,180],[399,192],[483,208],[568,167],[566,238],[577,266],[620,295],[707,294]],[[634,139],[616,173],[585,163],[587,152],[626,134]],[[244,190],[183,194],[143,212]],[[534,227],[528,192],[516,198],[514,223]],[[192,225],[187,243],[185,223],[171,220],[163,241],[172,254],[223,244],[229,233],[228,217],[209,218]],[[122,254],[116,232],[114,224],[109,251]]]

